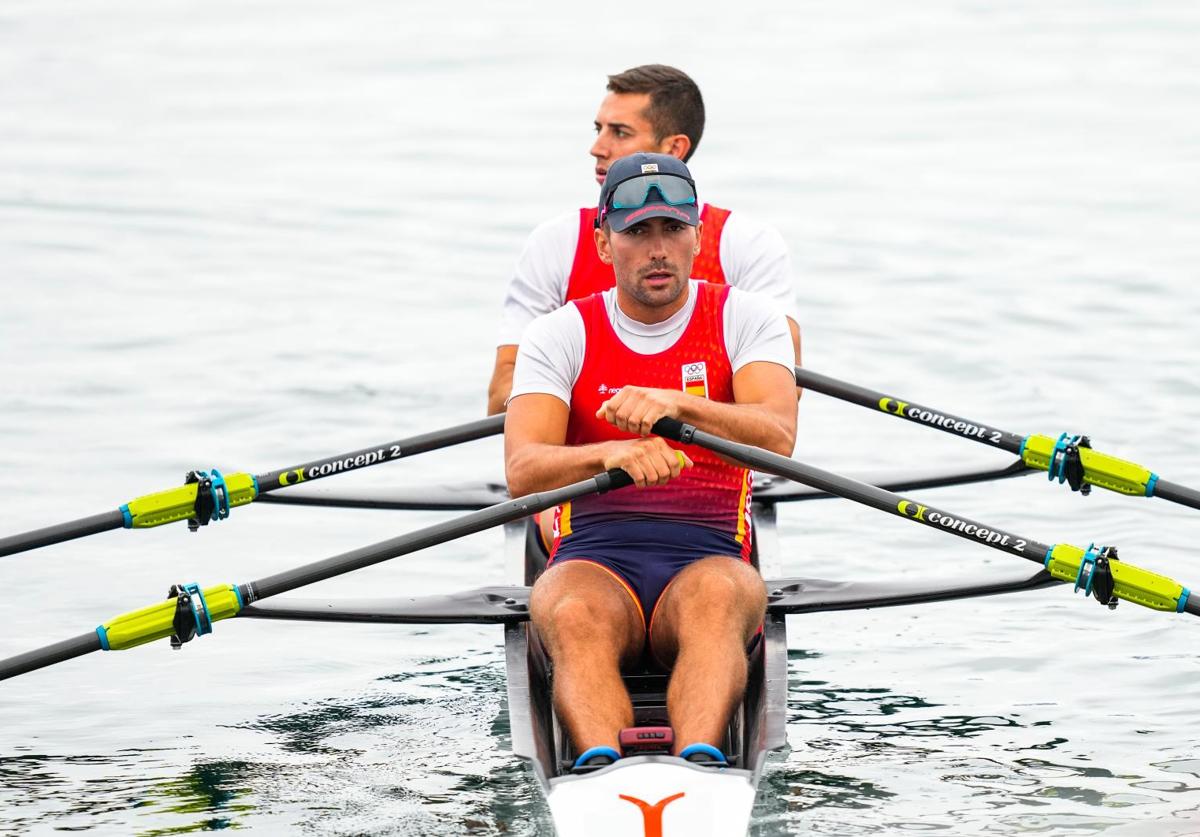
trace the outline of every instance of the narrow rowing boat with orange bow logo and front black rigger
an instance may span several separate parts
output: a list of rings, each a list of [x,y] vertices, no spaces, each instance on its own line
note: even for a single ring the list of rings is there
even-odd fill
[[[775,507],[755,502],[755,561],[768,577],[763,640],[752,651],[749,685],[730,718],[721,748],[730,766],[698,766],[672,755],[632,755],[571,775],[576,753],[554,713],[553,664],[528,621],[529,585],[546,554],[526,522],[506,528],[509,572],[523,584],[446,596],[353,602],[277,598],[247,606],[239,616],[356,622],[498,622],[504,626],[508,711],[514,754],[541,789],[559,837],[728,837],[749,829],[760,778],[770,753],[787,743],[788,614],[914,604],[1055,584],[1045,572],[1008,573],[990,582],[828,582],[779,578]],[[635,723],[658,725],[666,715],[667,676],[625,675]]]

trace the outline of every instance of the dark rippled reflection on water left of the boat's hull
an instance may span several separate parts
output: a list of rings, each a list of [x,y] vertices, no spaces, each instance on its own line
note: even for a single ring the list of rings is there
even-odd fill
[[[545,803],[511,757],[496,651],[422,661],[348,698],[230,729],[253,753],[178,749],[0,759],[0,833],[40,824],[139,835],[238,829],[329,833],[536,835]],[[124,812],[124,813],[122,813]]]

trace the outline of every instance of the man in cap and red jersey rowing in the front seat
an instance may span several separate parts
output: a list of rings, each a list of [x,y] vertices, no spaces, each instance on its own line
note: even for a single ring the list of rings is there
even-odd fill
[[[689,278],[703,235],[695,182],[670,155],[608,168],[594,231],[616,288],[526,331],[505,422],[514,496],[620,468],[635,487],[558,510],[530,618],[580,766],[619,757],[634,721],[622,667],[671,667],[676,752],[718,764],[766,610],[750,555],[750,472],[648,435],[671,416],[790,456],[793,344],[768,299]]]

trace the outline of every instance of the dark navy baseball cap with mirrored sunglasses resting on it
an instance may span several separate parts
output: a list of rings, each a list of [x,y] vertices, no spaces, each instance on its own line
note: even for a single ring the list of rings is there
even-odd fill
[[[600,187],[596,225],[608,222],[620,233],[646,218],[674,218],[691,227],[700,223],[696,181],[678,157],[640,151],[608,167]]]

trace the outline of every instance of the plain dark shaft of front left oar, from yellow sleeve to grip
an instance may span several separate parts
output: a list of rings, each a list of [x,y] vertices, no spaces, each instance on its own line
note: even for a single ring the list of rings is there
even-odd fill
[[[288,570],[257,582],[251,582],[250,584],[244,584],[239,588],[242,602],[250,604],[251,602],[276,596],[281,592],[302,588],[306,584],[323,582],[335,576],[370,567],[373,564],[400,558],[401,555],[426,549],[457,537],[474,535],[475,532],[510,520],[518,520],[522,517],[528,517],[534,512],[545,511],[546,508],[553,508],[584,494],[602,493],[628,484],[630,484],[629,476],[624,471],[613,470],[598,474],[594,477],[564,486],[563,488],[540,492],[538,494],[527,494],[526,496],[463,514],[452,520],[426,526],[425,529],[401,535],[389,541],[373,543],[360,549],[352,549],[341,555],[334,555],[332,558],[306,564],[295,570]]]

